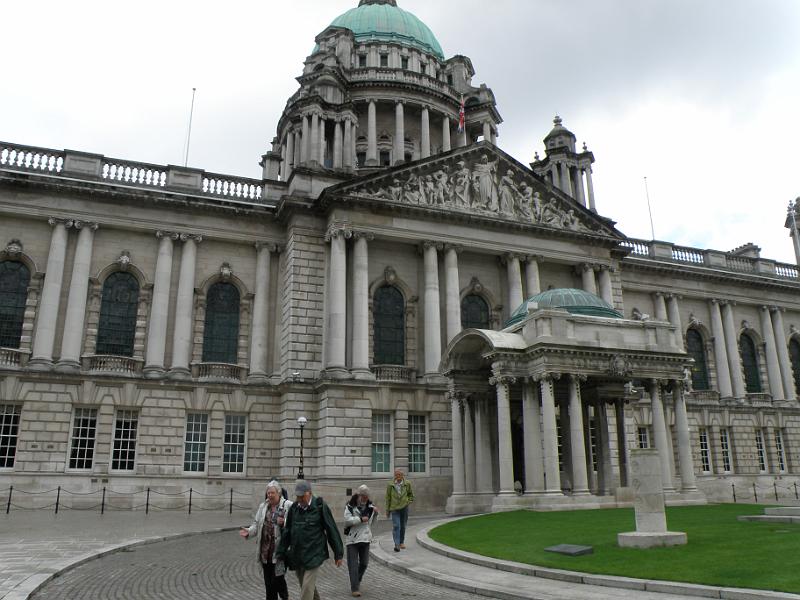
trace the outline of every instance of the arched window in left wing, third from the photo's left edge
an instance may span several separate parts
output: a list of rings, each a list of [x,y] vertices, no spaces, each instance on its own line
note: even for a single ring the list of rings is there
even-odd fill
[[[239,290],[215,283],[206,296],[203,362],[236,364],[239,347]]]

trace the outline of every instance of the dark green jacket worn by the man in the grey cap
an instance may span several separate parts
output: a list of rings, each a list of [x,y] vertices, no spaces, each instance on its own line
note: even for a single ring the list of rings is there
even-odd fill
[[[334,559],[340,560],[344,556],[342,537],[331,509],[322,498],[312,497],[305,511],[300,510],[300,503],[292,504],[277,557],[283,558],[292,570],[315,569],[328,559],[328,545],[333,550]]]

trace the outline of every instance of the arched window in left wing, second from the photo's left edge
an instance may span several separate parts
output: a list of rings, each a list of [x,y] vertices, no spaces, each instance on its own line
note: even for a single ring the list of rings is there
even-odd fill
[[[130,273],[112,273],[103,283],[95,354],[133,356],[139,282]]]

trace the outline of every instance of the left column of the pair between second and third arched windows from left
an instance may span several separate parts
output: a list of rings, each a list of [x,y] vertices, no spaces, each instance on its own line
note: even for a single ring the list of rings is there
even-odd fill
[[[144,375],[150,379],[164,376],[164,353],[167,346],[167,319],[169,317],[169,290],[172,282],[173,242],[177,233],[157,231],[158,256],[153,279],[153,300],[147,327]]]

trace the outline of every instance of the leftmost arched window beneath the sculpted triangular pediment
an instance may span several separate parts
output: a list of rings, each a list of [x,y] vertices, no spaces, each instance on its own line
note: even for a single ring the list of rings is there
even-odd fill
[[[406,364],[406,319],[403,294],[384,285],[375,292],[373,302],[373,345],[376,365]]]

